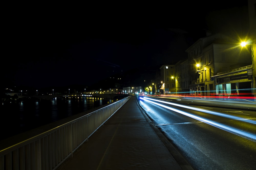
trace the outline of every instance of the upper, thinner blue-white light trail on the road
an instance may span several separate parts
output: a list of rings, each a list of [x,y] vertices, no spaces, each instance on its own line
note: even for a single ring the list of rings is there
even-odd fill
[[[252,123],[252,124],[256,125],[256,121],[244,119],[244,118],[238,117],[238,116],[232,116],[232,115],[227,115],[227,114],[223,114],[223,113],[219,113],[219,112],[214,112],[214,111],[194,108],[194,107],[190,107],[190,106],[184,106],[182,104],[170,103],[170,102],[167,102],[167,101],[156,100],[156,99],[152,99],[152,98],[148,98],[148,97],[144,97],[144,98],[148,99],[148,100],[154,100],[154,101],[158,101],[158,102],[162,102],[162,103],[166,103],[166,104],[171,104],[171,105],[178,106],[178,107],[183,107],[183,108],[191,109],[191,110],[196,110],[196,111],[200,111],[200,112],[214,114],[214,115],[221,116],[221,117],[226,117],[226,118],[229,118],[229,119],[236,119],[236,120],[240,120],[240,121],[243,121],[243,122]]]

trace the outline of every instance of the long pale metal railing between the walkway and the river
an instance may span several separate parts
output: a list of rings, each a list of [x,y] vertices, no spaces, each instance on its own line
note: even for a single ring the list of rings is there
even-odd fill
[[[131,96],[6,148],[0,170],[52,170],[73,155]]]

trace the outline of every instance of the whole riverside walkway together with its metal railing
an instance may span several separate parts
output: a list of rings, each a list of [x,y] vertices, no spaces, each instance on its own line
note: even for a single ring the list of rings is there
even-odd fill
[[[193,170],[131,96],[0,141],[0,170],[85,168]]]

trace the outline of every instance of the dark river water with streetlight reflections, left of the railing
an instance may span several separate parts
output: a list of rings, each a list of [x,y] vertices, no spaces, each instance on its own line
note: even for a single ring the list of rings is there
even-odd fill
[[[0,107],[0,140],[113,102],[97,98],[21,101]],[[6,126],[7,124],[7,126]]]

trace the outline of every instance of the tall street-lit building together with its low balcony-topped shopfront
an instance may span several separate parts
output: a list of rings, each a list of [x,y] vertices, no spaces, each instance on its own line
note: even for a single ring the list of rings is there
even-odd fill
[[[244,77],[251,72],[251,56],[241,46],[228,42],[228,39],[222,34],[210,35],[200,38],[186,50],[190,95],[226,95],[231,94],[232,90],[237,93],[239,86],[252,88],[251,77]],[[238,71],[241,68],[245,68],[245,71]],[[236,71],[236,74],[233,75],[232,71]],[[177,71],[176,74],[181,73]],[[180,91],[179,80],[176,85]]]

